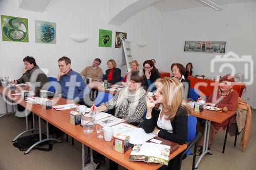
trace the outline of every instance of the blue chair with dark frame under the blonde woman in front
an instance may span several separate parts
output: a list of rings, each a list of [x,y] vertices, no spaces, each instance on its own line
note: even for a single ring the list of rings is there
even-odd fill
[[[201,132],[197,132],[197,118],[188,115],[187,118],[187,138],[186,141],[189,142],[187,145],[187,149],[183,152],[183,154],[180,157],[180,168],[181,169],[181,162],[183,159],[185,159],[188,155],[193,155],[193,164],[192,169],[195,169],[195,163],[196,163],[196,152],[197,152],[197,142],[201,137]],[[194,146],[194,152],[192,152],[191,148]]]

